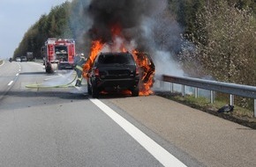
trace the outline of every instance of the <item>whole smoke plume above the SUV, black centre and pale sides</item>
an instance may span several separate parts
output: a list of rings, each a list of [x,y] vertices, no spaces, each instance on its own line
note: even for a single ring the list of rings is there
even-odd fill
[[[166,0],[77,0],[80,39],[86,52],[90,43],[101,40],[107,43],[105,50],[113,51],[113,46],[123,43],[129,47],[147,52],[156,66],[156,75],[182,76],[173,55],[180,48],[181,28],[170,15]],[[81,8],[82,6],[82,8]],[[115,27],[115,28],[113,28]],[[113,38],[113,32],[118,36]],[[130,50],[129,50],[130,51]],[[88,54],[87,53],[87,54]]]

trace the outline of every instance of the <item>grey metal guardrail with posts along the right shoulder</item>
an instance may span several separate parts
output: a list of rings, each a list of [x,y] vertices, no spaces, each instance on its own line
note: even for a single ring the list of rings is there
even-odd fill
[[[182,94],[184,96],[184,85],[191,86],[196,89],[204,89],[211,91],[211,102],[213,103],[213,91],[218,91],[222,93],[230,94],[230,105],[234,105],[234,95],[245,97],[245,98],[253,98],[254,99],[254,117],[256,116],[256,87],[244,85],[244,84],[230,84],[223,83],[211,80],[204,80],[192,77],[184,77],[184,76],[167,76],[162,75],[162,78],[159,78],[164,82],[181,84],[182,85]],[[196,92],[196,91],[195,91]],[[197,97],[197,93],[195,93]]]

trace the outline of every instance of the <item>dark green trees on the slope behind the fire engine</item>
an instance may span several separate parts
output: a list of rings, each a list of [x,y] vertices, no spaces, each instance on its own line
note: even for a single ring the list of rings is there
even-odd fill
[[[48,15],[32,25],[14,51],[13,58],[33,52],[34,57],[41,57],[41,47],[48,38],[72,38],[70,23],[71,3],[66,2],[51,9]]]

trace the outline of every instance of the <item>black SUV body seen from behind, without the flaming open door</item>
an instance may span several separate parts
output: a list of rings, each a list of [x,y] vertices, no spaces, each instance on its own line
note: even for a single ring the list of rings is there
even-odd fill
[[[128,52],[100,53],[88,72],[88,94],[98,98],[101,91],[130,90],[139,96],[139,68]]]

